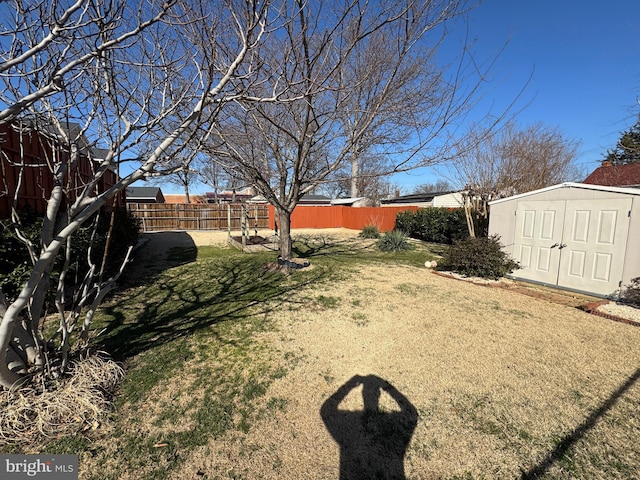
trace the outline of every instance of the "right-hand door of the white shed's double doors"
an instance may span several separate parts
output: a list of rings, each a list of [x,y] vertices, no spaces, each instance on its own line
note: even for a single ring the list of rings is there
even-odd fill
[[[558,285],[609,295],[622,279],[630,198],[567,202]]]

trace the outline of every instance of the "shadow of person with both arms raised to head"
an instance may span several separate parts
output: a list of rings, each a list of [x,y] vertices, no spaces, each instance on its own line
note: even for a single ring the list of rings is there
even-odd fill
[[[360,385],[364,409],[339,409],[340,403]],[[399,410],[381,410],[382,391]],[[391,384],[375,375],[356,375],[324,402],[320,416],[340,445],[340,480],[406,478],[404,456],[418,423],[418,412]]]

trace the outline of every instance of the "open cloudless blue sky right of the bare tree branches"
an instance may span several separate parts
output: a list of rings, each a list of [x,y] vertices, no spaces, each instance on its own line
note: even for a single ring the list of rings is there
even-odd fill
[[[460,34],[464,26],[455,31]],[[516,121],[542,122],[580,141],[578,166],[595,169],[640,107],[640,1],[485,0],[469,15],[480,57],[500,55],[477,114],[508,105],[533,74]],[[394,178],[405,193],[437,169]]]

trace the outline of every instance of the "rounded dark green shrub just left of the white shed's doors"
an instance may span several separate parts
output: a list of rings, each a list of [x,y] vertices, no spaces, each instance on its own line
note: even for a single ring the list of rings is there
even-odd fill
[[[497,280],[518,267],[518,262],[502,251],[500,238],[493,235],[456,241],[445,252],[438,270]]]

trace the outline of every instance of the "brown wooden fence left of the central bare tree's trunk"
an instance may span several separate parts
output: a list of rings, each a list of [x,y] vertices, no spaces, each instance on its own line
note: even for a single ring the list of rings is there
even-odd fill
[[[130,203],[144,232],[163,230],[240,230],[243,217],[249,228],[269,228],[266,204]]]

